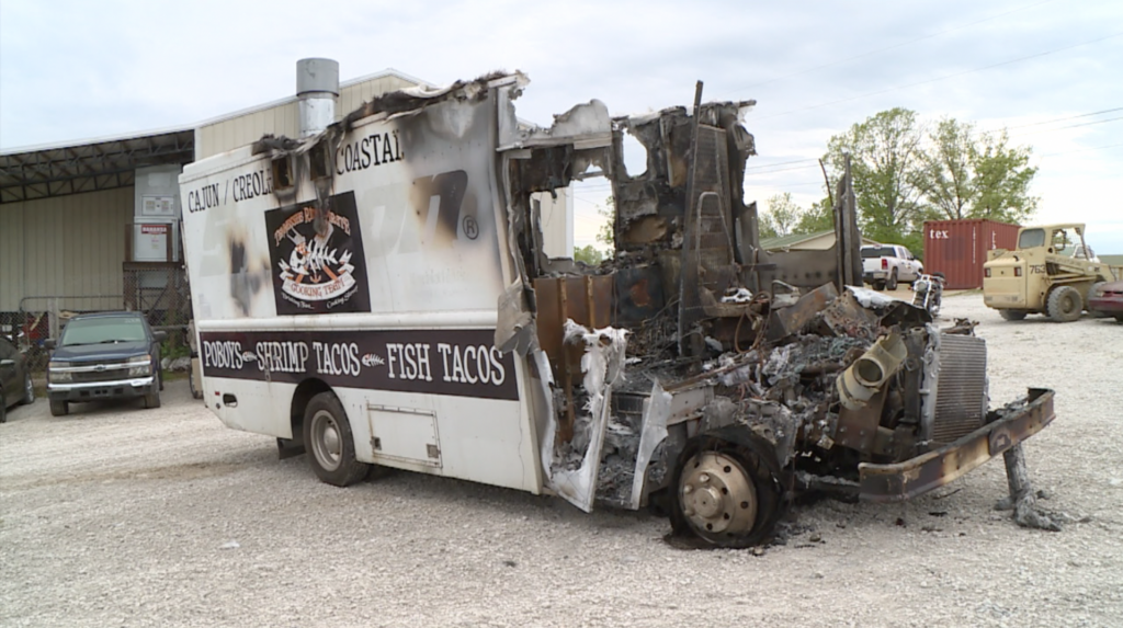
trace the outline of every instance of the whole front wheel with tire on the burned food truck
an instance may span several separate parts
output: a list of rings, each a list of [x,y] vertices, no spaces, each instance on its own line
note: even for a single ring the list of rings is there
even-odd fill
[[[756,440],[740,444],[720,435],[692,438],[678,456],[670,483],[675,532],[714,547],[751,547],[768,541],[783,496],[770,449]]]

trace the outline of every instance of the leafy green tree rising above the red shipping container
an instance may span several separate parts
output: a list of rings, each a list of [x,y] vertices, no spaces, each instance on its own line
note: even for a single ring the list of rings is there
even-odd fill
[[[1011,147],[1006,131],[977,132],[975,124],[941,120],[929,135],[919,186],[925,210],[948,220],[1024,222],[1037,210],[1030,183],[1030,148]]]

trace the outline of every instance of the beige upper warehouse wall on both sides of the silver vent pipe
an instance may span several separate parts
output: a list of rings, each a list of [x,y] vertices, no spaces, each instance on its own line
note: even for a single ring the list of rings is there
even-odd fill
[[[413,83],[398,76],[378,76],[341,87],[336,104],[336,119],[339,120],[376,95],[412,86]],[[266,133],[292,138],[300,136],[300,112],[295,96],[268,109],[199,127],[195,131],[195,159],[255,142]]]

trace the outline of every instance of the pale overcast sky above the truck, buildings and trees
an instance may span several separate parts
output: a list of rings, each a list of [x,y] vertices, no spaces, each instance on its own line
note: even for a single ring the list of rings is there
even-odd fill
[[[757,100],[746,198],[823,195],[828,139],[893,107],[1010,129],[1040,167],[1039,222],[1123,253],[1123,2],[263,2],[0,0],[0,147],[193,122],[292,95],[295,62],[347,81],[521,70],[526,120],[592,98],[613,114]],[[794,163],[793,163],[794,161]],[[778,164],[778,165],[777,165]],[[776,165],[767,167],[769,165]],[[575,202],[577,244],[594,205]]]

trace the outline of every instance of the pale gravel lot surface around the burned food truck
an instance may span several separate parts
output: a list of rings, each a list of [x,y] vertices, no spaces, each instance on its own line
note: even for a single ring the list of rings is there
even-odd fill
[[[170,382],[0,425],[3,626],[1123,626],[1123,325],[1008,323],[977,294],[993,404],[1057,390],[1026,445],[1063,532],[992,509],[1001,460],[912,504],[798,507],[763,555],[665,519],[395,473],[349,489]],[[898,518],[904,525],[897,525]]]

